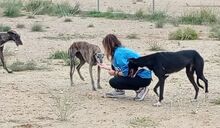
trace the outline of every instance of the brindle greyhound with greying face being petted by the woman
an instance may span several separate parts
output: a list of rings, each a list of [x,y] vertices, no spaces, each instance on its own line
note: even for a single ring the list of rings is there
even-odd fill
[[[87,42],[74,42],[69,50],[68,54],[70,56],[70,82],[71,86],[73,85],[73,73],[75,71],[75,62],[74,59],[77,57],[80,60],[79,65],[76,67],[79,77],[84,81],[80,73],[80,68],[87,62],[89,64],[89,74],[91,77],[92,89],[95,91],[94,80],[92,76],[92,67],[97,65],[97,63],[102,63],[104,54],[101,53],[101,49],[97,45],[89,44]],[[100,86],[100,67],[98,66],[98,79],[97,87],[101,89]]]

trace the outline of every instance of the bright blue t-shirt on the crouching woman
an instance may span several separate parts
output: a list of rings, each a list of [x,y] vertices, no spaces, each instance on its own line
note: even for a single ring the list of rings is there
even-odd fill
[[[117,47],[115,49],[112,65],[117,71],[121,71],[123,76],[128,76],[128,59],[138,57],[140,57],[140,55],[129,48],[122,46]],[[151,71],[146,69],[139,70],[137,75],[141,78],[152,78]]]

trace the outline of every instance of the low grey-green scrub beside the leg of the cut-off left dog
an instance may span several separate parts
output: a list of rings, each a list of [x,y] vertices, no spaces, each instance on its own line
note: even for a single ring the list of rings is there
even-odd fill
[[[43,66],[38,66],[36,64],[35,61],[31,60],[31,61],[27,61],[27,62],[21,62],[19,60],[15,61],[14,63],[12,63],[9,68],[12,71],[26,71],[26,70],[42,70],[42,69],[46,69]]]

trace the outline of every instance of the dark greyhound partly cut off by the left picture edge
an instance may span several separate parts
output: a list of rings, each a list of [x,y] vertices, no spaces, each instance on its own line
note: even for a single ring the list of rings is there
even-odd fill
[[[10,30],[5,33],[0,33],[0,59],[3,65],[3,68],[8,72],[12,73],[12,71],[9,71],[8,68],[6,67],[6,64],[4,62],[4,56],[3,56],[3,49],[4,49],[4,44],[8,41],[14,41],[17,46],[22,45],[22,41],[20,39],[20,35],[17,34],[17,32]]]

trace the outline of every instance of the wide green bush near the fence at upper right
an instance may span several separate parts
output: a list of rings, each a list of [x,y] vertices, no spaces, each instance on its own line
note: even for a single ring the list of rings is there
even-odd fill
[[[217,17],[211,10],[201,9],[199,11],[193,11],[185,13],[179,17],[179,22],[182,24],[212,24],[217,22]]]

